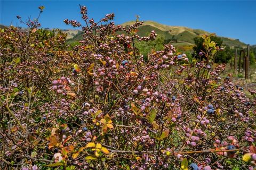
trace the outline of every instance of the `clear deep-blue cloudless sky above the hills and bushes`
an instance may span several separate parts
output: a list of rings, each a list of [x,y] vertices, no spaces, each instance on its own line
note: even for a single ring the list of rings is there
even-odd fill
[[[64,19],[81,21],[79,4],[88,8],[94,21],[115,13],[115,23],[156,21],[215,32],[218,36],[256,44],[256,1],[1,1],[0,23],[24,27],[16,18],[36,18],[38,6],[45,6],[39,19],[44,28],[72,29]]]

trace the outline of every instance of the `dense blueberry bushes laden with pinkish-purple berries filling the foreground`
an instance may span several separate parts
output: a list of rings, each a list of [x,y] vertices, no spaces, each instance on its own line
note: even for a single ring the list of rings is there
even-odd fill
[[[39,16],[0,30],[1,169],[255,168],[256,91],[213,65],[212,35],[203,61],[170,44],[145,60],[136,43],[157,33],[138,36],[143,22],[81,15],[64,21],[84,32],[74,47]]]

